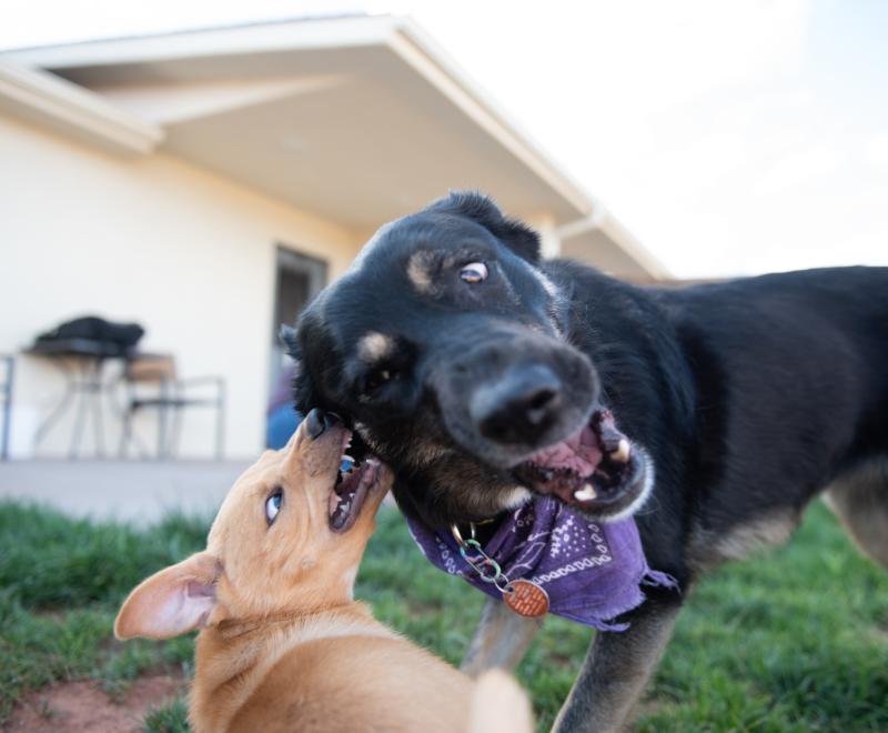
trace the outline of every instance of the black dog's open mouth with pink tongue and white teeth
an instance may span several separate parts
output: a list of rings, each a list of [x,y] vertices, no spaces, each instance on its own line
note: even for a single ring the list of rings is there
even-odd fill
[[[541,494],[587,511],[607,509],[640,492],[645,461],[614,424],[609,410],[596,410],[587,425],[561,443],[534,453],[513,474]]]

